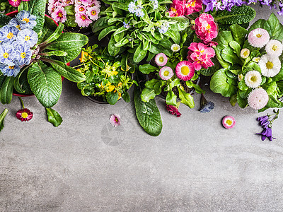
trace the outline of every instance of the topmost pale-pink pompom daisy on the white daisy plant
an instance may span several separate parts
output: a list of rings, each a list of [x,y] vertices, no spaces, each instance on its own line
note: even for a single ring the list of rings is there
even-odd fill
[[[262,28],[251,30],[248,34],[248,42],[253,47],[262,48],[267,44],[269,40],[270,34],[268,34],[267,30],[264,30]]]

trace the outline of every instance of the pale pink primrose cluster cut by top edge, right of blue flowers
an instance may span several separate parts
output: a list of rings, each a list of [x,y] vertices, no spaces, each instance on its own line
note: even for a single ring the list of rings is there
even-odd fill
[[[79,27],[88,27],[93,20],[97,20],[100,12],[100,2],[98,0],[49,0],[48,12],[51,17],[59,23],[67,20],[66,6],[75,6],[75,22]]]

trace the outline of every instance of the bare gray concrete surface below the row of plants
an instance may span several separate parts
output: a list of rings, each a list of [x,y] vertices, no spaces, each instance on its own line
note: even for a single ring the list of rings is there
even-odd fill
[[[98,105],[66,80],[57,128],[35,97],[23,98],[34,117],[20,122],[13,97],[0,136],[0,211],[283,211],[283,114],[272,128],[277,139],[261,141],[255,119],[266,112],[206,96],[212,112],[198,112],[195,95],[196,107],[181,105],[179,118],[156,99],[158,137],[141,129],[133,103]],[[112,113],[121,126],[110,125]],[[225,115],[235,117],[233,129],[221,126]]]

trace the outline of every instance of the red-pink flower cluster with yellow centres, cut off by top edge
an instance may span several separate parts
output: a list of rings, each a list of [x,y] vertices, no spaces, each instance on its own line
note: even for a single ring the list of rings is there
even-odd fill
[[[171,17],[188,16],[202,10],[202,0],[173,0],[171,4]]]

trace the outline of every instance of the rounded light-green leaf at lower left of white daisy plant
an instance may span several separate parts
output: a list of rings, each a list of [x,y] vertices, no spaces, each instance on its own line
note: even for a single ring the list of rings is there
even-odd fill
[[[219,69],[214,73],[210,81],[210,89],[214,93],[221,93],[225,97],[230,97],[236,93],[237,88],[227,83],[228,76],[226,76],[225,71],[226,69]]]

